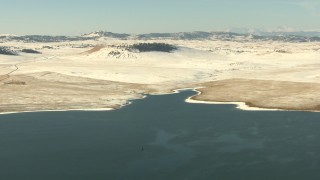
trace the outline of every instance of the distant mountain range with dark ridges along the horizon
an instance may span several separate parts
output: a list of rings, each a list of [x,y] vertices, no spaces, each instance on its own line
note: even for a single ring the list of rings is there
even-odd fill
[[[23,42],[64,42],[64,41],[85,41],[97,40],[100,38],[113,39],[136,39],[136,40],[223,40],[223,41],[284,41],[284,42],[320,42],[318,31],[297,31],[297,32],[263,32],[248,30],[238,32],[179,32],[179,33],[149,33],[149,34],[121,34],[107,31],[96,31],[82,36],[42,36],[42,35],[0,35],[0,42],[23,41]]]

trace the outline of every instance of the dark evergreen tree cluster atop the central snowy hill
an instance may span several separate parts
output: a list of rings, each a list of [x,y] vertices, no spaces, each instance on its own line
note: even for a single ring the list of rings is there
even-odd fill
[[[160,52],[172,52],[178,48],[171,44],[166,43],[139,43],[130,46],[130,49],[137,49],[139,52],[150,52],[150,51],[160,51]]]

